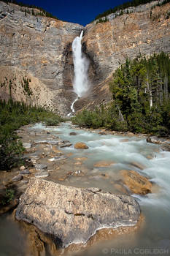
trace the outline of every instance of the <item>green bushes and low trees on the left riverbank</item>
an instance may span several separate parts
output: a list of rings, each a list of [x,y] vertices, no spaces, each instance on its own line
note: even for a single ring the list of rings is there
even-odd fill
[[[22,157],[24,148],[15,131],[38,121],[57,125],[63,119],[43,108],[13,102],[12,99],[8,102],[0,100],[0,170],[10,170]]]

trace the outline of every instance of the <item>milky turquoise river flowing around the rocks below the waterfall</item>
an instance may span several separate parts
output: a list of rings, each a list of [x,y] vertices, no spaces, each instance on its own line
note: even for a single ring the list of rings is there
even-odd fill
[[[35,124],[28,129],[30,132],[43,130],[61,140],[69,140],[73,146],[62,148],[63,154],[72,161],[83,157],[82,165],[74,165],[83,175],[71,176],[62,184],[100,187],[114,193],[117,192],[114,184],[120,180],[120,170],[136,170],[158,184],[159,188],[152,194],[132,195],[138,200],[144,216],[139,230],[95,244],[78,252],[78,255],[170,255],[170,152],[161,151],[161,146],[147,143],[144,137],[99,135],[97,131],[79,129],[69,122],[58,127]],[[76,132],[77,135],[71,136],[70,132]],[[75,149],[74,143],[78,141],[85,142],[88,149]],[[110,165],[94,167],[96,162],[102,160],[110,162]],[[144,170],[135,167],[134,162],[143,165]],[[53,177],[50,175],[47,179],[58,182]],[[0,255],[23,255],[24,234],[17,222],[10,220],[9,214],[0,218],[0,230]]]

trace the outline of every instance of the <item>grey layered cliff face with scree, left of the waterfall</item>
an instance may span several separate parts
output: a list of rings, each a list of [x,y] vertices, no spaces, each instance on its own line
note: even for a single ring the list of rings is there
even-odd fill
[[[11,93],[13,99],[67,113],[74,97],[69,52],[83,27],[25,15],[19,6],[1,1],[0,14],[1,98]]]

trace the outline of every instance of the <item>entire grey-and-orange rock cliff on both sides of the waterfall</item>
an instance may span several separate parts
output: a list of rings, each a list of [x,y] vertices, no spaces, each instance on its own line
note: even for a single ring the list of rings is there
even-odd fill
[[[85,30],[82,48],[90,59],[91,90],[76,102],[93,108],[109,101],[112,72],[139,53],[170,52],[170,4],[138,7],[130,14],[85,28],[53,18],[25,15],[15,4],[0,1],[0,93],[1,98],[23,99],[48,106],[66,115],[75,99],[72,41]]]

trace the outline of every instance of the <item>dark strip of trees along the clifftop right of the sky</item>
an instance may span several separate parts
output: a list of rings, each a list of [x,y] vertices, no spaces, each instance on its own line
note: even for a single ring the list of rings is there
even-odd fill
[[[137,7],[140,4],[147,4],[150,3],[153,0],[132,0],[132,1],[127,1],[124,4],[120,4],[117,7],[114,8],[110,8],[107,11],[102,12],[101,14],[98,14],[95,18],[95,20],[101,19],[103,17],[106,17],[107,15],[111,14],[111,13],[115,13],[115,12],[119,12],[120,10],[125,10],[129,7]],[[169,3],[170,0],[164,0],[162,3],[158,3],[158,6],[161,6],[163,4],[167,4]],[[123,15],[124,12],[120,12],[120,15]]]

